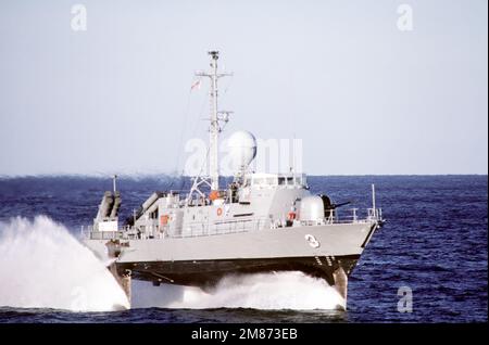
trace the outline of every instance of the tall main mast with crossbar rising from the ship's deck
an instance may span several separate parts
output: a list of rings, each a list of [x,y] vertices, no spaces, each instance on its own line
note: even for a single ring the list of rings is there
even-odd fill
[[[220,167],[218,167],[218,135],[222,130],[220,120],[227,123],[228,112],[223,112],[224,116],[220,116],[217,110],[217,80],[221,77],[230,76],[231,74],[217,73],[217,60],[220,59],[218,51],[210,51],[211,55],[211,72],[198,72],[196,76],[211,78],[211,115],[209,127],[209,176],[211,178],[211,190],[220,189]]]

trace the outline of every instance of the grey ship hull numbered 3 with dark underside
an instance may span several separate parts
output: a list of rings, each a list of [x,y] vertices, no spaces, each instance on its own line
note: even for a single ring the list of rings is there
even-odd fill
[[[348,276],[376,222],[336,223],[193,238],[85,240],[100,257],[117,257],[120,277],[210,288],[229,274],[302,271],[347,296]]]

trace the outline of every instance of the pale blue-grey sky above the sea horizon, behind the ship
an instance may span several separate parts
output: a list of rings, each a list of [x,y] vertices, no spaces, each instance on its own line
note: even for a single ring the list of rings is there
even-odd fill
[[[71,28],[75,3],[86,31]],[[226,135],[301,138],[311,175],[487,174],[487,13],[484,0],[3,0],[0,175],[180,169],[186,140],[208,135],[205,88],[189,88],[210,49],[235,73]]]

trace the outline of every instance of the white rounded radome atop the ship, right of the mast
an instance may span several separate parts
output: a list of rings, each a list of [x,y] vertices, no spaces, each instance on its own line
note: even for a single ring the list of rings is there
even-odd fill
[[[234,168],[247,168],[256,155],[256,139],[249,131],[234,132],[228,139],[227,145]]]

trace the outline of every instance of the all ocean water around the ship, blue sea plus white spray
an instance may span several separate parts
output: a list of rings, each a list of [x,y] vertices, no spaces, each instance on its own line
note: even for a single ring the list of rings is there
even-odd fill
[[[298,272],[226,278],[213,292],[135,283],[134,308],[77,241],[110,177],[0,178],[0,322],[474,322],[487,321],[487,176],[310,177],[334,202],[371,205],[387,223],[336,292]],[[121,178],[123,216],[168,177]],[[347,212],[344,206],[340,212]],[[399,289],[412,292],[400,312]]]

